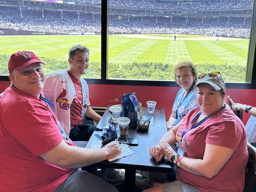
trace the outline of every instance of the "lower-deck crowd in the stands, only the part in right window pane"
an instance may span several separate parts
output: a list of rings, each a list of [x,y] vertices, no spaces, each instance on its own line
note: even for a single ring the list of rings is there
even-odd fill
[[[111,18],[111,16],[110,16]],[[154,19],[153,19],[154,18]],[[109,22],[109,30],[119,33],[167,33],[167,34],[196,34],[227,37],[245,37],[249,38],[251,18],[228,18],[211,19],[204,21],[196,20],[193,17],[188,21],[185,17],[171,18],[155,17],[129,18],[129,21],[112,20]],[[128,27],[129,26],[129,27]]]

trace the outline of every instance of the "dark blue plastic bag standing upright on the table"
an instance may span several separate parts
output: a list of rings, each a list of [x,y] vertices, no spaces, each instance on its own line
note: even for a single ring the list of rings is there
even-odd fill
[[[138,119],[140,119],[140,105],[135,93],[124,94],[121,106],[123,110],[120,116],[130,118],[129,126],[137,127]]]

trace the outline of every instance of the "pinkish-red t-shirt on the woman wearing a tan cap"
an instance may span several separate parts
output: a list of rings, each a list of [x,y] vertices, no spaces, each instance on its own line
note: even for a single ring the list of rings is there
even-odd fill
[[[177,131],[178,145],[185,157],[203,159],[205,143],[235,150],[220,172],[211,179],[189,173],[177,167],[177,180],[189,183],[200,191],[243,191],[245,167],[248,161],[246,131],[243,123],[230,109],[222,109],[204,123],[188,131],[180,141],[183,131],[189,130],[192,119],[201,111],[191,110]]]

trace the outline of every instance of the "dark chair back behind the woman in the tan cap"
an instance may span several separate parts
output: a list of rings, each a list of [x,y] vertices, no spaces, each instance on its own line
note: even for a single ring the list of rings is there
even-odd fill
[[[247,142],[249,159],[245,170],[245,183],[243,192],[251,192],[256,185],[256,148]]]

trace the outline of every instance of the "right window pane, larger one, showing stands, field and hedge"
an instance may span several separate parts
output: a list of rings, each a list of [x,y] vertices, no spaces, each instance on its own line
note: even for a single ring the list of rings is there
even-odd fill
[[[192,61],[245,82],[253,1],[109,1],[109,79],[174,80]]]

